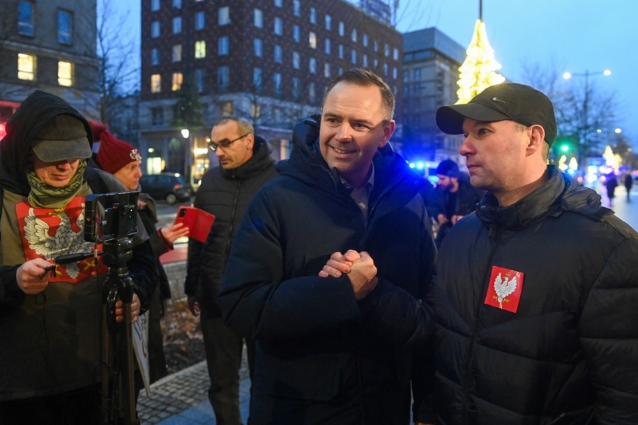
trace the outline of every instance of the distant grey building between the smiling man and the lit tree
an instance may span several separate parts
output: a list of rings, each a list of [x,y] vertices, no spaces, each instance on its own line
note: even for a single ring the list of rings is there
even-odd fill
[[[430,162],[436,168],[450,158],[464,164],[459,155],[461,137],[436,127],[436,109],[457,102],[459,66],[465,49],[436,28],[403,35],[402,102],[397,123],[403,155],[409,161]]]

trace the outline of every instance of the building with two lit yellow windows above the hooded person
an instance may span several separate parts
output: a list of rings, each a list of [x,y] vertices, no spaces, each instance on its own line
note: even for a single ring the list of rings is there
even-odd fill
[[[96,0],[4,0],[0,58],[0,124],[36,88],[98,116]]]

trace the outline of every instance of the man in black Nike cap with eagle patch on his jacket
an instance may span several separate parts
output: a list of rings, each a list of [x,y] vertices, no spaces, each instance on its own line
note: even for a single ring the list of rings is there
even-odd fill
[[[547,165],[552,102],[499,84],[436,123],[465,135],[471,184],[488,192],[436,263],[436,423],[637,424],[638,234]],[[393,341],[427,334],[432,316],[414,304]]]

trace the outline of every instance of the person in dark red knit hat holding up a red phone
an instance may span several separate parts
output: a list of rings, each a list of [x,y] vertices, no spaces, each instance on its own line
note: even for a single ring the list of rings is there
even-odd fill
[[[98,166],[108,173],[112,173],[126,190],[139,190],[139,178],[142,177],[142,155],[135,146],[114,137],[102,123],[91,122],[93,139],[100,141],[100,149],[95,157]],[[157,229],[157,207],[155,200],[149,194],[140,193],[137,201],[137,210],[142,218],[146,233],[149,233],[151,247],[157,263],[160,275],[159,291],[154,291],[149,309],[149,372],[151,383],[167,375],[166,360],[164,357],[164,345],[160,319],[163,316],[163,304],[171,299],[171,288],[168,277],[159,257],[173,249],[173,242],[181,236],[188,235],[188,227],[183,224]]]

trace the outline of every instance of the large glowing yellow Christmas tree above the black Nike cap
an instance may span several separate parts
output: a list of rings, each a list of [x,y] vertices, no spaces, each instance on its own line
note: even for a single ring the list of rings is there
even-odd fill
[[[501,64],[494,59],[494,49],[487,41],[485,24],[480,19],[476,20],[472,41],[465,52],[467,57],[459,68],[457,103],[467,103],[484,88],[505,81],[505,77],[496,72]]]

